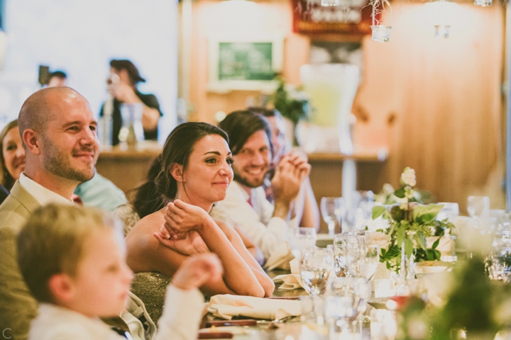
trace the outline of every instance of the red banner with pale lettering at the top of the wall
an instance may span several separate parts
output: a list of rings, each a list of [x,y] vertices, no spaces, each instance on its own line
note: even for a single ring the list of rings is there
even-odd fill
[[[340,6],[321,6],[321,0],[291,0],[293,31],[302,34],[370,34],[373,8],[368,0],[341,0]]]

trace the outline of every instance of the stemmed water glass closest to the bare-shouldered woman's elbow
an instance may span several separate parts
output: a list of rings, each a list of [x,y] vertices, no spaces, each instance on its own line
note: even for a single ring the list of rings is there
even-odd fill
[[[306,248],[302,250],[300,276],[309,295],[323,295],[331,271],[334,269],[334,255],[331,249]]]

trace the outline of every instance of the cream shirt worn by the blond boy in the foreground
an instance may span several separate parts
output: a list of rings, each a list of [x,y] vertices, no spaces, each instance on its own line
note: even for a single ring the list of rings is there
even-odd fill
[[[199,290],[180,290],[170,285],[165,309],[153,340],[193,340],[202,317],[204,297]],[[120,336],[97,318],[49,303],[39,305],[28,340],[121,340]]]

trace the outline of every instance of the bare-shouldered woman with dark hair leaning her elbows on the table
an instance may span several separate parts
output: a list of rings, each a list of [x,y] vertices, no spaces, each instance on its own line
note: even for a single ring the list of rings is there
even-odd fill
[[[225,132],[207,123],[178,125],[167,137],[161,162],[156,189],[173,202],[143,217],[128,233],[128,265],[136,273],[157,271],[173,276],[188,256],[211,251],[219,256],[224,275],[205,284],[203,293],[271,295],[273,281],[239,235],[207,213],[213,203],[224,199],[233,179]],[[163,227],[166,215],[172,219],[175,237],[168,238]]]

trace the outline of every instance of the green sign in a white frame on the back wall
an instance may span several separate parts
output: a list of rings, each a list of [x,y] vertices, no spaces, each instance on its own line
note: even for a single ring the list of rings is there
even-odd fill
[[[283,40],[274,35],[210,38],[209,91],[273,91],[275,75],[282,70]]]

